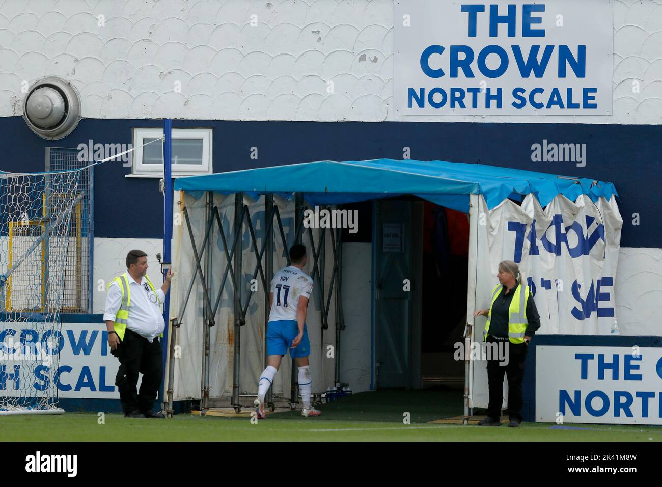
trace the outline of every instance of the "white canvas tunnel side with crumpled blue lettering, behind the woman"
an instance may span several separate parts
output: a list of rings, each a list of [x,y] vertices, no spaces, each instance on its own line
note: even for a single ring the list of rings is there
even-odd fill
[[[532,288],[540,329],[545,335],[607,335],[614,325],[614,286],[623,221],[616,199],[594,203],[557,195],[544,209],[529,193],[517,205],[504,199],[489,210],[483,195],[471,195],[469,286],[465,340],[465,407],[487,407],[487,363],[473,343],[483,342],[485,317],[476,309],[491,305],[502,260],[514,260],[522,282]],[[504,407],[508,399],[504,381]],[[465,410],[466,411],[466,410]]]

